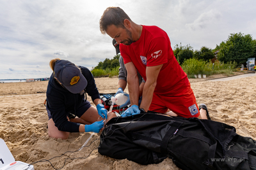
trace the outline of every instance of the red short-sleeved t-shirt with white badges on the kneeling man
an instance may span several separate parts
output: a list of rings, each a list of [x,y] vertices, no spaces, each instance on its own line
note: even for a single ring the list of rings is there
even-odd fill
[[[163,64],[157,77],[157,93],[179,94],[189,85],[187,74],[173,55],[168,35],[157,26],[143,25],[140,39],[131,45],[120,44],[120,52],[124,63],[132,62],[145,81],[146,67]]]

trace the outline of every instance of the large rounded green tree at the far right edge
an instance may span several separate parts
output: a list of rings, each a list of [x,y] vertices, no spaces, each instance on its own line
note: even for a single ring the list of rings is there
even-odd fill
[[[218,53],[218,59],[222,62],[236,61],[237,64],[245,64],[255,52],[253,44],[250,34],[244,35],[241,32],[230,34]]]

